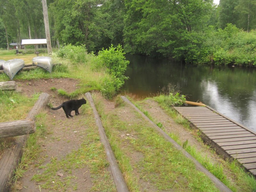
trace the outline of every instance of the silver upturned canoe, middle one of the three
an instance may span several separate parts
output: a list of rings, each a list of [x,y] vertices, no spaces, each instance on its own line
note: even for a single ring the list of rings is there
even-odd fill
[[[20,69],[22,69],[25,66],[25,62],[22,59],[12,59],[5,61],[3,64],[4,72],[7,76],[10,77],[12,80],[13,77],[18,73]]]

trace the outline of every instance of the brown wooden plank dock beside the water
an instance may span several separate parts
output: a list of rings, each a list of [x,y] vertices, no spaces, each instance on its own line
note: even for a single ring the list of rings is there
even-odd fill
[[[205,107],[174,107],[224,158],[236,159],[256,178],[256,132]]]

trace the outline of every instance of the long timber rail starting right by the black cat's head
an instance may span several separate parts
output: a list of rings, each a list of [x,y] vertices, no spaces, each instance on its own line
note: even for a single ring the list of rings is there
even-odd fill
[[[94,105],[92,95],[91,95],[91,93],[87,92],[87,93],[85,93],[85,96],[86,96],[87,100],[89,100],[89,102],[91,104],[91,107],[93,109],[93,113],[94,113],[94,116],[95,116],[95,121],[96,121],[96,124],[98,125],[98,128],[99,128],[100,141],[102,142],[102,144],[105,147],[108,162],[109,162],[109,167],[110,167],[110,173],[111,173],[111,175],[114,179],[114,182],[116,184],[117,192],[128,192],[129,190],[128,190],[127,185],[124,181],[124,177],[123,177],[123,175],[122,175],[122,173],[119,169],[119,166],[116,162],[116,158],[115,158],[115,155],[112,151],[110,143],[108,141],[107,134],[106,134],[105,129],[102,125],[102,122],[100,120],[100,116],[99,116],[99,114],[96,110],[96,107]]]

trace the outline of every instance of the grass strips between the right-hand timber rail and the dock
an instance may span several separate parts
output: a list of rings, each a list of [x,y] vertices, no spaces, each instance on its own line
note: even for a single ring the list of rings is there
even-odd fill
[[[166,103],[163,102],[164,100],[162,99],[162,97],[163,97],[163,95],[161,95],[159,97],[155,97],[154,100],[159,102],[161,107],[167,112],[167,114],[172,116],[172,118],[174,119],[174,121],[176,123],[182,124],[186,129],[191,130],[189,127],[188,121],[186,119],[184,119],[180,114],[178,114],[176,112],[176,110],[174,110],[173,108],[170,108],[169,105],[166,105]],[[151,120],[154,121],[153,119],[151,119]],[[193,132],[193,131],[191,131],[191,132]],[[193,133],[191,133],[191,134],[193,134]],[[196,134],[194,134],[194,135],[196,135]],[[173,135],[170,135],[170,136],[181,146],[184,144],[184,143],[182,144],[180,142],[179,138],[173,137]],[[202,140],[199,136],[200,136],[200,134],[197,135],[197,140],[202,142]],[[207,148],[209,151],[212,151],[212,153],[214,153],[214,150],[209,149],[209,147],[207,145],[205,145],[205,148]],[[202,156],[201,153],[198,153],[198,151],[196,151],[195,147],[189,146],[186,144],[185,149],[186,149],[186,151],[189,152],[190,155],[192,155],[199,163],[201,163],[213,175],[215,175],[218,179],[220,179],[232,191],[256,191],[255,179],[253,178],[252,175],[246,173],[244,171],[244,169],[241,168],[241,166],[239,165],[238,162],[236,162],[236,161],[229,162],[229,161],[223,160],[222,164],[218,164],[218,163],[213,164],[211,161],[209,161],[207,156]],[[228,170],[232,174],[233,180],[235,180],[235,182],[233,182],[232,180],[230,180],[228,178],[229,176],[227,176],[224,173],[224,169]]]

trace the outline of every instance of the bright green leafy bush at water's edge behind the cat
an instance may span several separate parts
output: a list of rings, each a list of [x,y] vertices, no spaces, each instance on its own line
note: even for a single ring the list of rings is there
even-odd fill
[[[117,47],[111,45],[105,50],[103,48],[94,62],[96,68],[106,68],[109,77],[103,80],[104,86],[101,92],[107,98],[112,98],[124,84],[124,80],[128,79],[124,76],[124,72],[129,61],[125,60],[123,48],[120,44]]]

